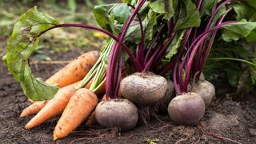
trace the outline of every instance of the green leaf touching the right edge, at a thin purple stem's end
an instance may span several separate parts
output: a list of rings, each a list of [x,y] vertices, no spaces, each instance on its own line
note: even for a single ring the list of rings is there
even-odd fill
[[[223,26],[222,39],[226,42],[231,42],[246,38],[255,29],[256,22],[246,22],[244,19],[242,21]]]

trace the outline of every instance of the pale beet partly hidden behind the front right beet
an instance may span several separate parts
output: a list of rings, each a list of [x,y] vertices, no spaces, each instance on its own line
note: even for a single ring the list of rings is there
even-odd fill
[[[205,102],[206,107],[208,107],[214,98],[215,87],[208,81],[201,81],[193,86],[192,92],[199,94]]]

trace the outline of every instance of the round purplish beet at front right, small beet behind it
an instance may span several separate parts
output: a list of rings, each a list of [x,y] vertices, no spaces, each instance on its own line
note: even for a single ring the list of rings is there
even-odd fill
[[[183,93],[175,97],[168,106],[171,120],[186,126],[195,126],[205,114],[206,106],[200,95]]]

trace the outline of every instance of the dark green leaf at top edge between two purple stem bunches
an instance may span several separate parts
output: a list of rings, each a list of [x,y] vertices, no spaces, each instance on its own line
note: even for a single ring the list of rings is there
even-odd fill
[[[200,14],[191,0],[182,0],[181,14],[174,30],[200,26]]]

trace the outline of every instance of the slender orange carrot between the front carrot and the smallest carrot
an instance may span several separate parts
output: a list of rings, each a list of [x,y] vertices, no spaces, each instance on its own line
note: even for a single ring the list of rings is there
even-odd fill
[[[55,94],[54,98],[51,99],[46,106],[42,108],[28,122],[25,126],[26,130],[33,128],[34,126],[40,125],[42,122],[45,122],[47,119],[53,118],[56,115],[62,114],[62,111],[65,109],[67,103],[70,101],[71,96],[74,94],[75,86],[78,84],[78,82],[63,87],[61,90],[58,90],[57,94]]]

